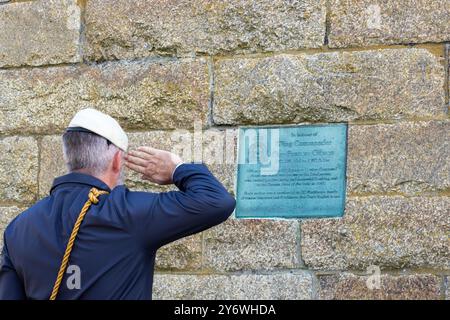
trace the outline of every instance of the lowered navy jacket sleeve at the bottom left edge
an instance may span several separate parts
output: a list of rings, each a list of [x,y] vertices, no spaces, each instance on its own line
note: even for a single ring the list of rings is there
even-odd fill
[[[11,262],[6,238],[0,256],[0,300],[25,300],[25,290]]]

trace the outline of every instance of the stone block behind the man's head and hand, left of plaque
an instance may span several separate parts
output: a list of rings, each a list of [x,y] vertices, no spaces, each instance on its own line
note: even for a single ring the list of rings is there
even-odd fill
[[[197,131],[196,131],[197,132]],[[198,131],[203,142],[203,162],[225,187],[233,192],[236,170],[236,137],[235,129]],[[202,134],[203,133],[203,134]],[[147,145],[158,149],[175,152],[186,162],[193,161],[194,146],[198,136],[188,130],[148,131],[129,133],[129,148]],[[191,147],[189,147],[191,146]],[[197,149],[200,150],[200,149]],[[199,151],[200,152],[200,151]],[[41,170],[39,172],[39,195],[48,194],[53,179],[66,172],[62,152],[61,136],[45,136],[42,139]],[[125,171],[125,184],[132,190],[161,192],[175,190],[174,186],[158,186],[144,181],[141,176],[131,170]]]

